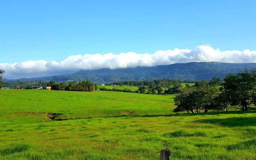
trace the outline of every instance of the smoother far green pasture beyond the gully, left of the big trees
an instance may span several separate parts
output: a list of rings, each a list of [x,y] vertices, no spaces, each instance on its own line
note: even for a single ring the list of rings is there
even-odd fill
[[[124,92],[0,90],[0,117],[23,112],[63,113],[68,118],[109,117],[127,114],[165,114],[174,108],[174,95]]]

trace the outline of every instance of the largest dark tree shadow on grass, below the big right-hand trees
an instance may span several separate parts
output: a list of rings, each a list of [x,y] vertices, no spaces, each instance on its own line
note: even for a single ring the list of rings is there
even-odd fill
[[[256,126],[256,117],[231,117],[225,119],[204,119],[196,120],[195,123],[212,123],[227,127]]]

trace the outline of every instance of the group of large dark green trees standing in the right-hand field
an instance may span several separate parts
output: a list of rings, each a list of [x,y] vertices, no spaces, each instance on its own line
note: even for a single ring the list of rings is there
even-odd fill
[[[216,87],[219,84],[222,86]],[[174,102],[174,112],[201,113],[228,110],[229,106],[244,111],[252,109],[252,105],[256,105],[256,69],[229,74],[223,81],[218,78],[211,83],[198,81],[194,86],[185,87]]]

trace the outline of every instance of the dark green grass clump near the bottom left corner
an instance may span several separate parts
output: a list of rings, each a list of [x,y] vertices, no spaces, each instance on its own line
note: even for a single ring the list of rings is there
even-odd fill
[[[14,146],[9,146],[8,148],[4,148],[0,150],[0,155],[6,156],[22,151],[26,151],[30,148],[30,145],[27,144],[16,144]]]

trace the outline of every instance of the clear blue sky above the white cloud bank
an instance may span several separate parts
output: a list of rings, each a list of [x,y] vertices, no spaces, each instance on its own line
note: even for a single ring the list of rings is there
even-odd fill
[[[256,50],[255,8],[255,0],[1,1],[0,63],[206,44]]]

